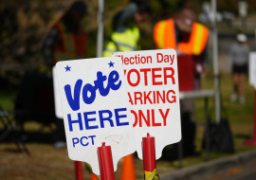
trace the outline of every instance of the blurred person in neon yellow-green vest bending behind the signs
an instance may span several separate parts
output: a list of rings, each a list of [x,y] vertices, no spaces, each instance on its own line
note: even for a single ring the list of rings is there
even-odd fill
[[[113,32],[108,38],[102,56],[110,57],[116,51],[139,49],[140,34],[137,25],[148,21],[151,14],[151,6],[146,2],[131,2],[120,10],[113,18]]]

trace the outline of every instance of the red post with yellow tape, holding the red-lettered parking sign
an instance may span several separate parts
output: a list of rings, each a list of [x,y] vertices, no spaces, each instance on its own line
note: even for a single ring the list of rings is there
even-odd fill
[[[143,165],[144,165],[144,179],[152,180],[159,179],[156,172],[155,162],[155,137],[150,136],[149,133],[146,137],[142,138],[143,148]]]

